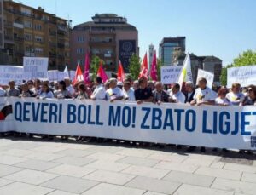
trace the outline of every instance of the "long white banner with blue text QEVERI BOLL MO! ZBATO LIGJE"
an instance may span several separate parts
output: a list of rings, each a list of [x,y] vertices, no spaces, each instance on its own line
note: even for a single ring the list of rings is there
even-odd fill
[[[256,106],[0,98],[0,131],[256,148]]]

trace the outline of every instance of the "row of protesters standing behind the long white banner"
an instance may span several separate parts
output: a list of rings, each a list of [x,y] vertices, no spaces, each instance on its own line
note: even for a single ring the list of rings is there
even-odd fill
[[[131,79],[119,82],[116,78],[110,78],[105,83],[102,83],[101,77],[96,77],[94,83],[85,84],[82,81],[74,85],[67,77],[58,83],[35,79],[19,86],[16,86],[14,81],[10,81],[8,86],[0,86],[0,97],[90,99],[109,100],[110,102],[125,100],[136,101],[137,104],[152,102],[157,105],[178,103],[191,106],[256,106],[255,85],[241,88],[239,83],[233,83],[231,89],[221,86],[211,89],[207,87],[207,80],[201,77],[197,86],[187,82],[183,89],[181,88],[182,86],[178,83],[166,86],[161,82],[148,81],[145,77],[133,82]],[[80,139],[83,138],[79,137],[78,140]],[[195,146],[188,146],[189,152],[193,150],[195,150]],[[204,147],[201,147],[201,152],[205,152]]]

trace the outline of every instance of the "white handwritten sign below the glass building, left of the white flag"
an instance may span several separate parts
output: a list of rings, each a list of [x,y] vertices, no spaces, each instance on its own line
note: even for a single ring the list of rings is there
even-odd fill
[[[182,66],[161,66],[161,82],[172,84],[177,82]]]

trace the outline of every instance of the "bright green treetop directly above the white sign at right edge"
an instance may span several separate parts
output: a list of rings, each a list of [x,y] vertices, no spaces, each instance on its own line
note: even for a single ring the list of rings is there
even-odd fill
[[[247,50],[233,60],[233,66],[256,65],[256,51]]]

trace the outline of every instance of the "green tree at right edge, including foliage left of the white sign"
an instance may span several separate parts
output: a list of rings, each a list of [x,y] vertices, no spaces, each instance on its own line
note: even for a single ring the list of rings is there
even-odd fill
[[[253,50],[244,51],[233,60],[232,64],[223,67],[220,75],[220,83],[222,85],[227,85],[227,68],[250,65],[256,65],[256,51]]]

